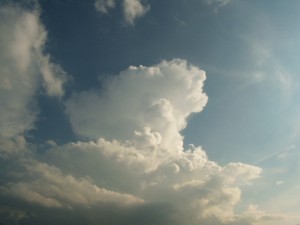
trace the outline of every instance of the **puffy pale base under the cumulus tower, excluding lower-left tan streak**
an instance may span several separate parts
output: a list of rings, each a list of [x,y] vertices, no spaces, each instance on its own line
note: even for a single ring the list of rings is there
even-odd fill
[[[236,221],[241,217],[234,210],[241,187],[261,172],[242,163],[221,167],[200,147],[176,154],[155,153],[151,146],[140,149],[134,143],[104,139],[56,147],[41,160],[66,174],[89,176],[106,190],[128,193],[145,203],[170,205],[187,215],[189,224],[206,224],[212,218],[215,224]]]

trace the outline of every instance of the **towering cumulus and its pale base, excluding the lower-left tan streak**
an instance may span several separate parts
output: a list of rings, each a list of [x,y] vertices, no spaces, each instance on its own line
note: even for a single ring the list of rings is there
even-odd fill
[[[249,222],[253,218],[236,214],[235,207],[242,187],[261,169],[243,163],[222,167],[201,147],[183,149],[180,131],[207,101],[204,80],[204,71],[180,59],[130,66],[101,91],[85,91],[66,103],[74,130],[96,141],[54,148],[43,160],[65,173],[89,175],[108,190],[171,205],[189,224]],[[85,166],[66,166],[67,159]]]

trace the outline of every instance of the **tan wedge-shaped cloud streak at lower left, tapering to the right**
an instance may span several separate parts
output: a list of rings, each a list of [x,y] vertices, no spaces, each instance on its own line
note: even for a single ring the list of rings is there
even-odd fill
[[[134,196],[99,188],[87,178],[64,175],[60,169],[29,159],[23,162],[22,181],[1,187],[2,194],[16,196],[45,207],[88,206],[97,202],[141,204]]]

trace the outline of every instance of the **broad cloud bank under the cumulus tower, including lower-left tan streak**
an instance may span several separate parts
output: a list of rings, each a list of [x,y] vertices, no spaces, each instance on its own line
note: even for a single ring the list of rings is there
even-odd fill
[[[190,224],[212,218],[230,224],[240,187],[260,174],[242,163],[218,166],[200,147],[171,155],[152,147],[99,139],[54,146],[38,161],[27,154],[1,193],[50,208],[160,203],[187,215]]]

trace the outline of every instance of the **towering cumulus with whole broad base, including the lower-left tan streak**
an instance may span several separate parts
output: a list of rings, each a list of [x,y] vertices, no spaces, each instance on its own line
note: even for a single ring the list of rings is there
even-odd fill
[[[189,224],[260,220],[235,212],[243,186],[260,176],[260,168],[219,166],[201,147],[183,148],[180,131],[187,117],[207,102],[204,80],[204,71],[174,59],[130,66],[101,92],[74,95],[66,103],[68,115],[75,131],[91,141],[52,145],[43,156],[32,155],[25,143],[22,159],[10,159],[13,174],[1,192],[23,204],[74,209],[109,205],[117,214],[124,213],[118,207],[162,204]],[[183,223],[172,214],[161,216],[157,224],[163,218]]]

